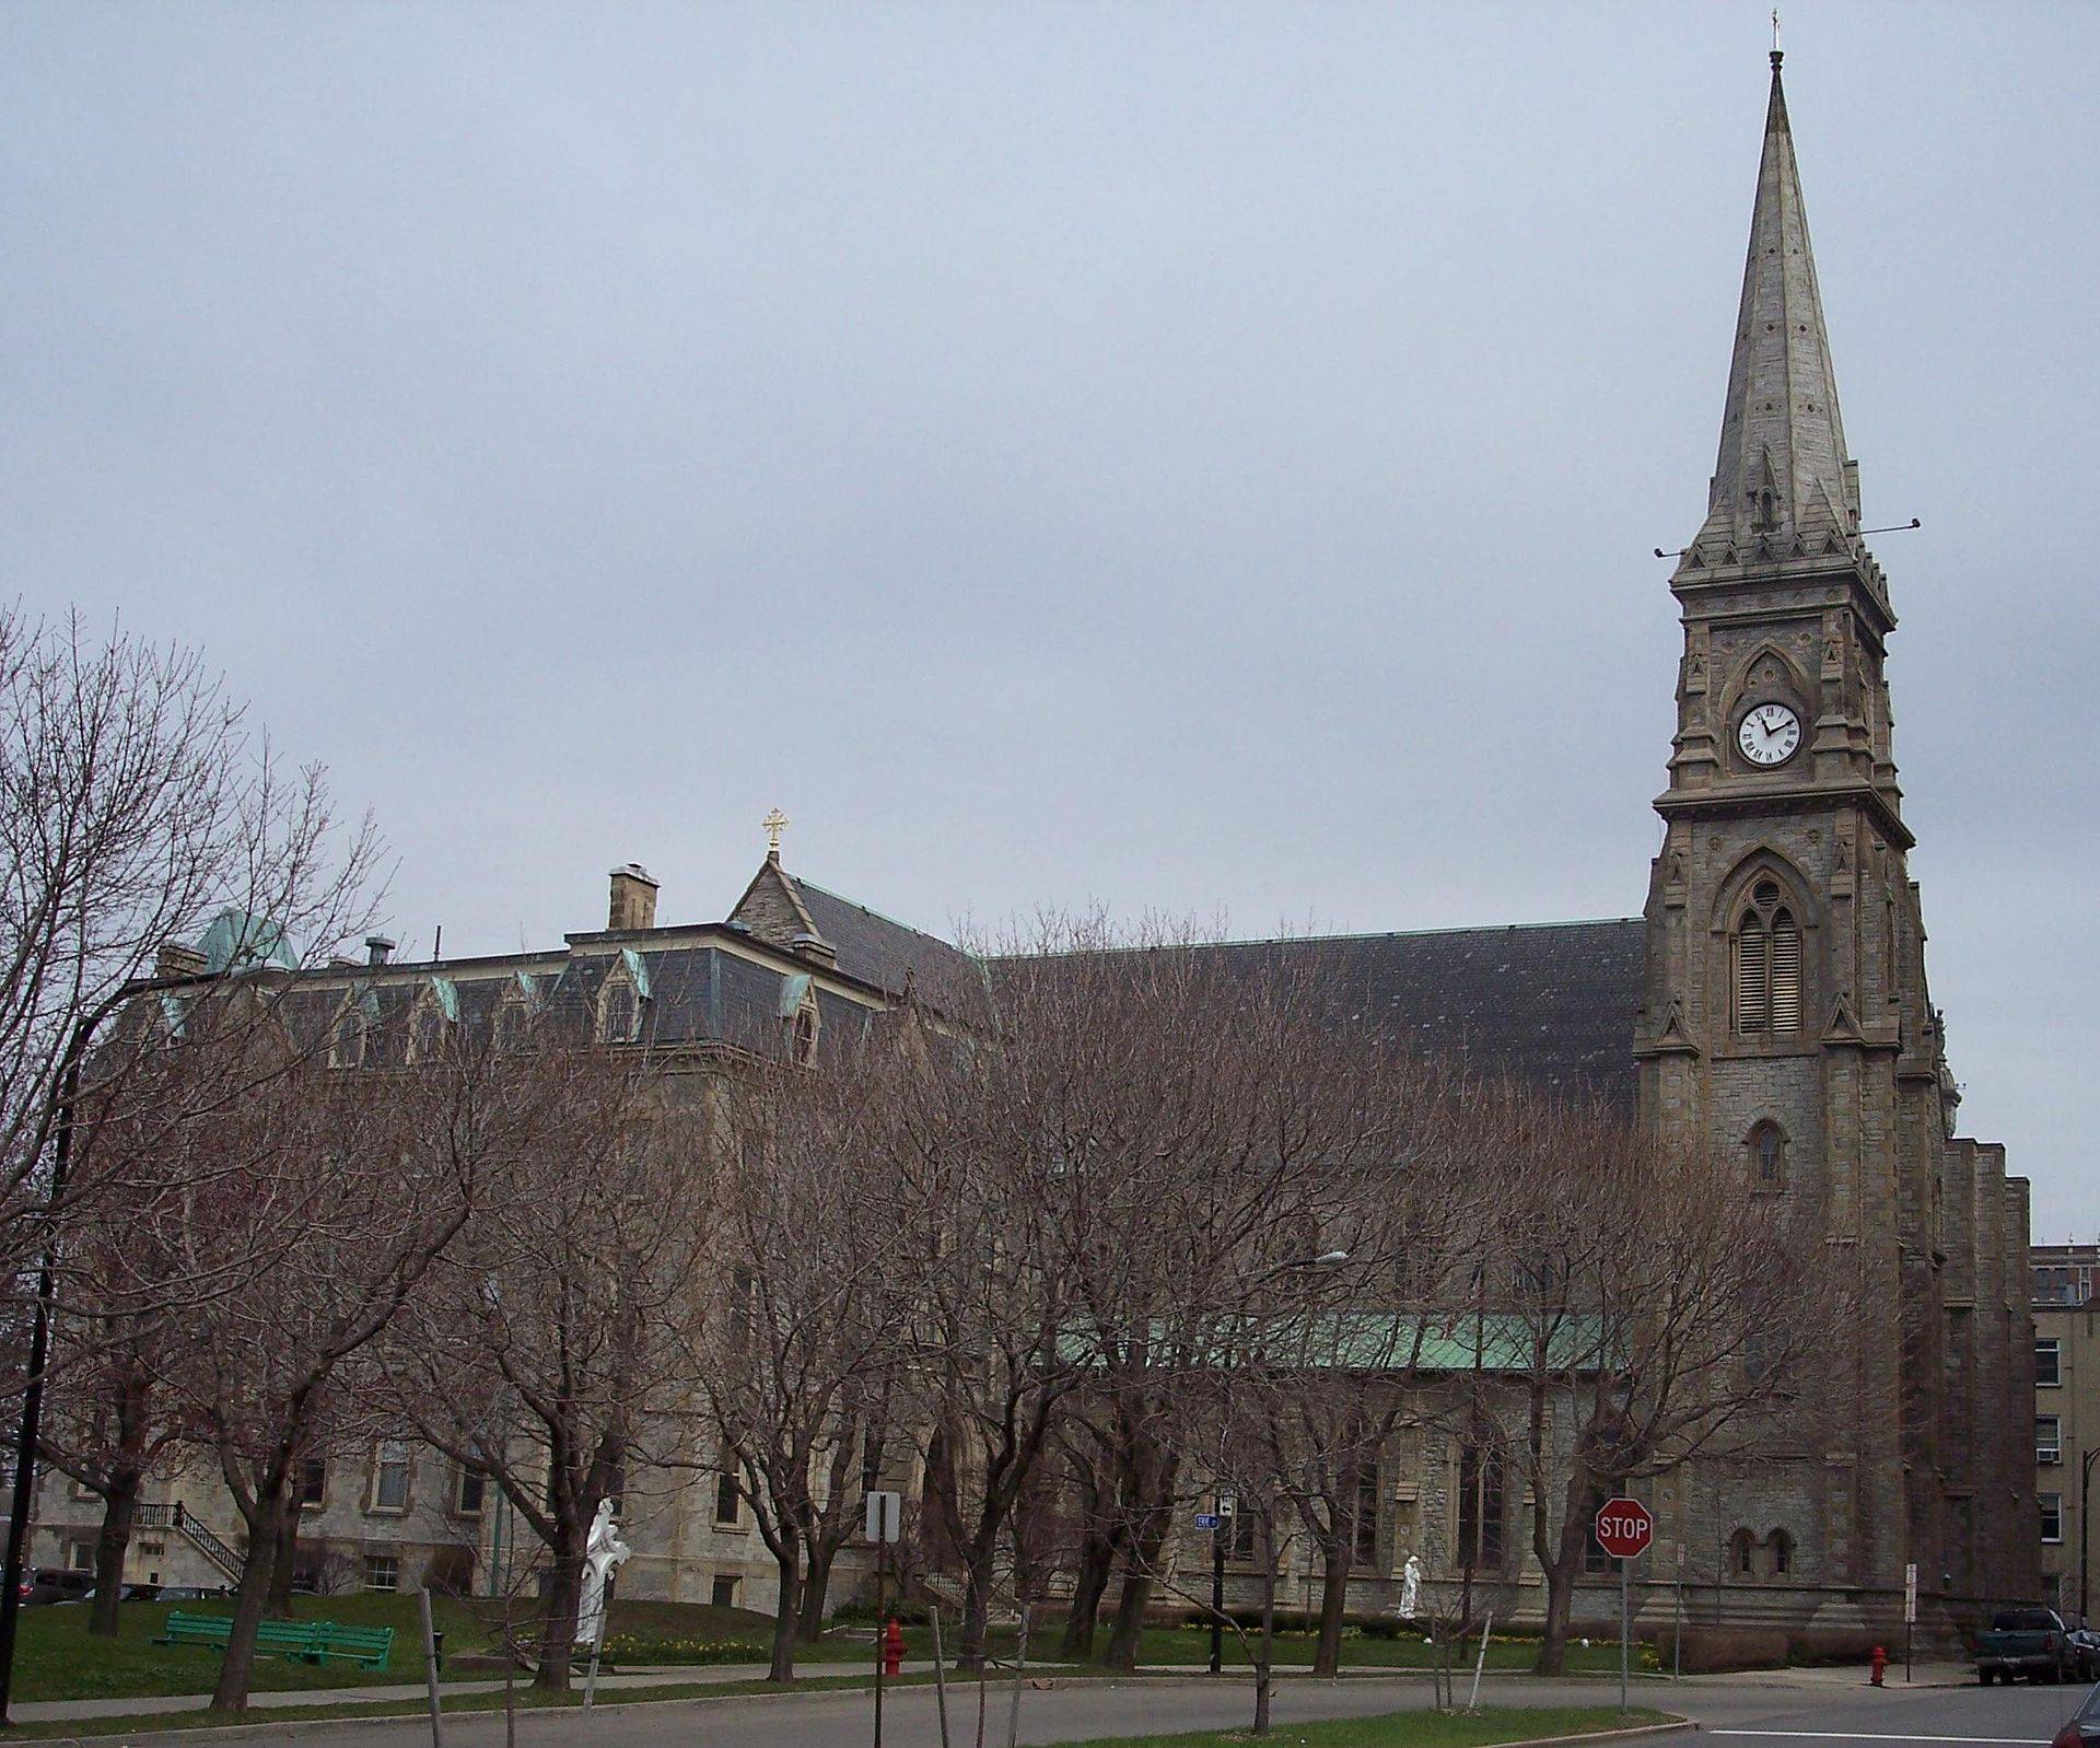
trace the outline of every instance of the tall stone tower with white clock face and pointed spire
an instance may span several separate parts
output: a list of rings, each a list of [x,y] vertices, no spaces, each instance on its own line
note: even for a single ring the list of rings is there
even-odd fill
[[[1684,656],[1636,1055],[1644,1118],[1827,1244],[1854,1317],[1796,1445],[1682,1487],[1697,1504],[1661,1534],[1783,1532],[1785,1572],[1760,1576],[1850,1590],[1880,1626],[1909,1563],[1928,1595],[2035,1590],[2026,1202],[2003,1149],[1953,1130],[1892,750],[1896,616],[1779,65],[1720,454],[1670,580]]]

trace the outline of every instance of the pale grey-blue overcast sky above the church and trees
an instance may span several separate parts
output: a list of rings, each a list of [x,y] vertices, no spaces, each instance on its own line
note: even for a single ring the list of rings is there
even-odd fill
[[[1646,893],[1764,6],[0,8],[0,578],[447,952]],[[2092,6],[1793,6],[1964,1122],[2094,1235]]]

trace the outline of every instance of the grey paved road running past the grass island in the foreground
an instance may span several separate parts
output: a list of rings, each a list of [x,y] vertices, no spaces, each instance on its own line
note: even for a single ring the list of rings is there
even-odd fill
[[[1006,1695],[993,1689],[995,1733],[1004,1742]],[[1350,1679],[1340,1683],[1294,1677],[1277,1685],[1277,1721],[1361,1716],[1428,1704],[1428,1683],[1415,1679]],[[1609,1681],[1489,1679],[1483,1700],[1506,1706],[1609,1704]],[[2045,1748],[2050,1735],[2077,1706],[2071,1687],[1938,1687],[1873,1691],[1833,1677],[1735,1677],[1642,1683],[1638,1700],[1697,1719],[1701,1731],[1648,1737],[1655,1744],[1705,1748]],[[1245,1681],[1205,1677],[1153,1677],[1136,1681],[1050,1681],[1023,1695],[1021,1740],[1029,1744],[1084,1742],[1086,1737],[1243,1725]],[[974,1735],[974,1689],[951,1695],[953,1740]],[[216,1735],[210,1733],[210,1735]],[[204,1740],[210,1740],[206,1735]],[[869,1698],[865,1693],[783,1693],[750,1700],[693,1704],[611,1706],[588,1719],[578,1712],[523,1714],[527,1748],[865,1748]],[[162,1737],[200,1742],[197,1735]],[[426,1723],[372,1725],[286,1723],[246,1742],[315,1742],[328,1748],[422,1748]],[[934,1695],[924,1687],[895,1689],[886,1702],[886,1748],[937,1748]],[[449,1716],[447,1748],[496,1748],[502,1719]]]

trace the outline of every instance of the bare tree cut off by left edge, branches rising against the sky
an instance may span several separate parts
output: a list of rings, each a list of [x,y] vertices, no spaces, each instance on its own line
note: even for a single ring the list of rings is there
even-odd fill
[[[55,1223],[126,1189],[78,1174],[52,1198],[61,1114],[97,1103],[158,1114],[134,1050],[94,1050],[97,1027],[170,941],[220,918],[225,973],[326,954],[363,927],[378,840],[342,826],[319,767],[290,773],[187,649],[92,637],[78,620],[0,609],[0,1271],[27,1279]],[[294,945],[302,943],[302,945]],[[250,1019],[260,1008],[246,1008]],[[170,994],[162,1025],[181,1025]],[[252,1069],[235,1053],[229,1074]],[[210,1088],[195,1071],[187,1086]],[[225,1092],[223,1086],[216,1088]],[[147,1170],[155,1156],[134,1151]]]

